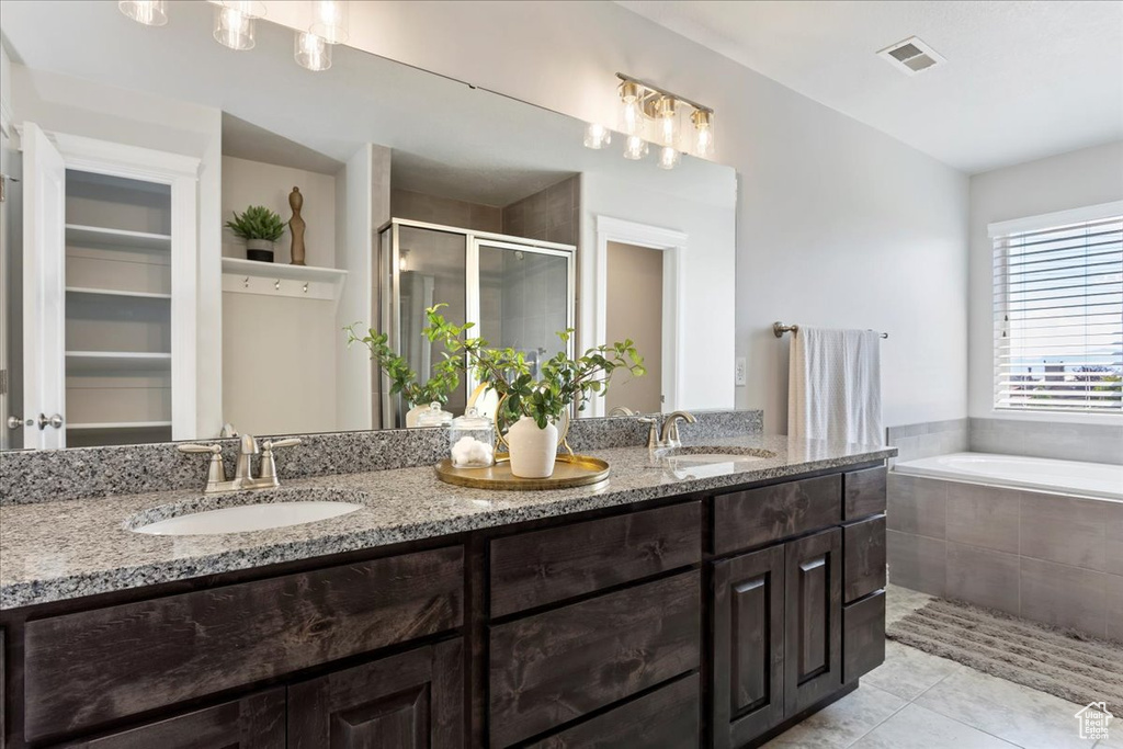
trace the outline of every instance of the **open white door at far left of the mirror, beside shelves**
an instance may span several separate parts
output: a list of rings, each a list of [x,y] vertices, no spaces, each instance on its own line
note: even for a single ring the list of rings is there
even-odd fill
[[[24,124],[24,447],[66,447],[66,165],[34,122]]]

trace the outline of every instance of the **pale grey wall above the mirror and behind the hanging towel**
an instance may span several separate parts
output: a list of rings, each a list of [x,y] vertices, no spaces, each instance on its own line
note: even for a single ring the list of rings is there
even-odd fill
[[[300,3],[267,4],[307,24]],[[714,107],[715,161],[741,188],[737,404],[784,431],[787,344],[768,329],[784,319],[889,332],[887,424],[966,414],[965,175],[614,3],[353,3],[350,44],[590,121],[615,121],[618,71]]]

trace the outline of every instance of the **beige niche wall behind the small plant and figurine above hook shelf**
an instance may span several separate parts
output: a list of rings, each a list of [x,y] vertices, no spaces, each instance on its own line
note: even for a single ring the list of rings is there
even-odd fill
[[[289,193],[300,188],[304,197],[301,216],[308,225],[304,235],[304,263],[318,267],[336,267],[336,177],[329,174],[252,162],[234,156],[222,157],[222,226],[249,205],[265,205],[285,223],[284,236],[274,247],[274,262],[289,263],[292,236],[289,219],[292,208]],[[245,257],[246,244],[222,229],[222,255]]]

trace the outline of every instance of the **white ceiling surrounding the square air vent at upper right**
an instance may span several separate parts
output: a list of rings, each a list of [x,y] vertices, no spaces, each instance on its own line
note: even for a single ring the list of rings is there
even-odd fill
[[[1123,2],[621,0],[968,173],[1123,138]],[[917,36],[947,64],[876,53]]]

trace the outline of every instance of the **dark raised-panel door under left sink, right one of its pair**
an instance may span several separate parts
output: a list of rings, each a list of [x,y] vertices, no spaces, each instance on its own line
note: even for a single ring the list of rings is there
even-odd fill
[[[289,687],[290,749],[464,746],[459,639]]]

